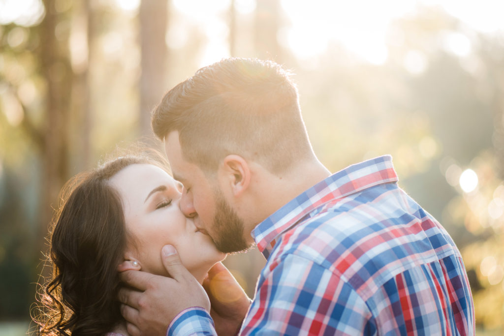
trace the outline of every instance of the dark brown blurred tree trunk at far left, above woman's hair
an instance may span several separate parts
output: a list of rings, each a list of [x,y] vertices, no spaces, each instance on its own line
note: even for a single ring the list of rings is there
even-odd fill
[[[68,131],[73,78],[68,52],[69,34],[61,31],[62,26],[58,27],[58,24],[65,20],[65,14],[56,11],[55,2],[44,0],[46,15],[40,24],[38,49],[41,71],[47,88],[46,118],[45,125],[42,126],[43,184],[40,197],[40,237],[47,235],[52,208],[56,207],[59,190],[69,175]],[[60,29],[57,33],[56,27]]]

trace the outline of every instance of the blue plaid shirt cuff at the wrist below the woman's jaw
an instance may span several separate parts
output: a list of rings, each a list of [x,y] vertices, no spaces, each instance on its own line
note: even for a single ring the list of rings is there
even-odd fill
[[[166,336],[217,335],[214,321],[202,307],[182,310],[171,321]]]

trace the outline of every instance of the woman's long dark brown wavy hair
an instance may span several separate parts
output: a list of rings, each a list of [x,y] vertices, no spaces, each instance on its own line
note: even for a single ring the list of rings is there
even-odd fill
[[[127,232],[122,203],[109,179],[132,164],[153,164],[170,173],[162,155],[122,156],[78,174],[61,190],[49,230],[52,276],[34,317],[43,335],[102,335],[121,320],[117,265]],[[134,237],[132,237],[134,238]]]

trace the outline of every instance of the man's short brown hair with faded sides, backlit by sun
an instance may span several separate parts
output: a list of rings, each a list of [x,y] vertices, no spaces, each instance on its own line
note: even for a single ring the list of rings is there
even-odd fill
[[[227,58],[198,70],[165,94],[152,128],[161,140],[177,130],[184,159],[206,173],[229,154],[275,174],[313,155],[297,88],[273,61]]]

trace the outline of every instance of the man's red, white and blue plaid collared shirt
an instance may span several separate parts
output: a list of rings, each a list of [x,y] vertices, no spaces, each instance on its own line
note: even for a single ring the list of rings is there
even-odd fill
[[[259,224],[268,261],[240,334],[474,334],[460,252],[397,181],[390,156],[368,160]],[[179,314],[168,333],[215,334],[200,315]]]

